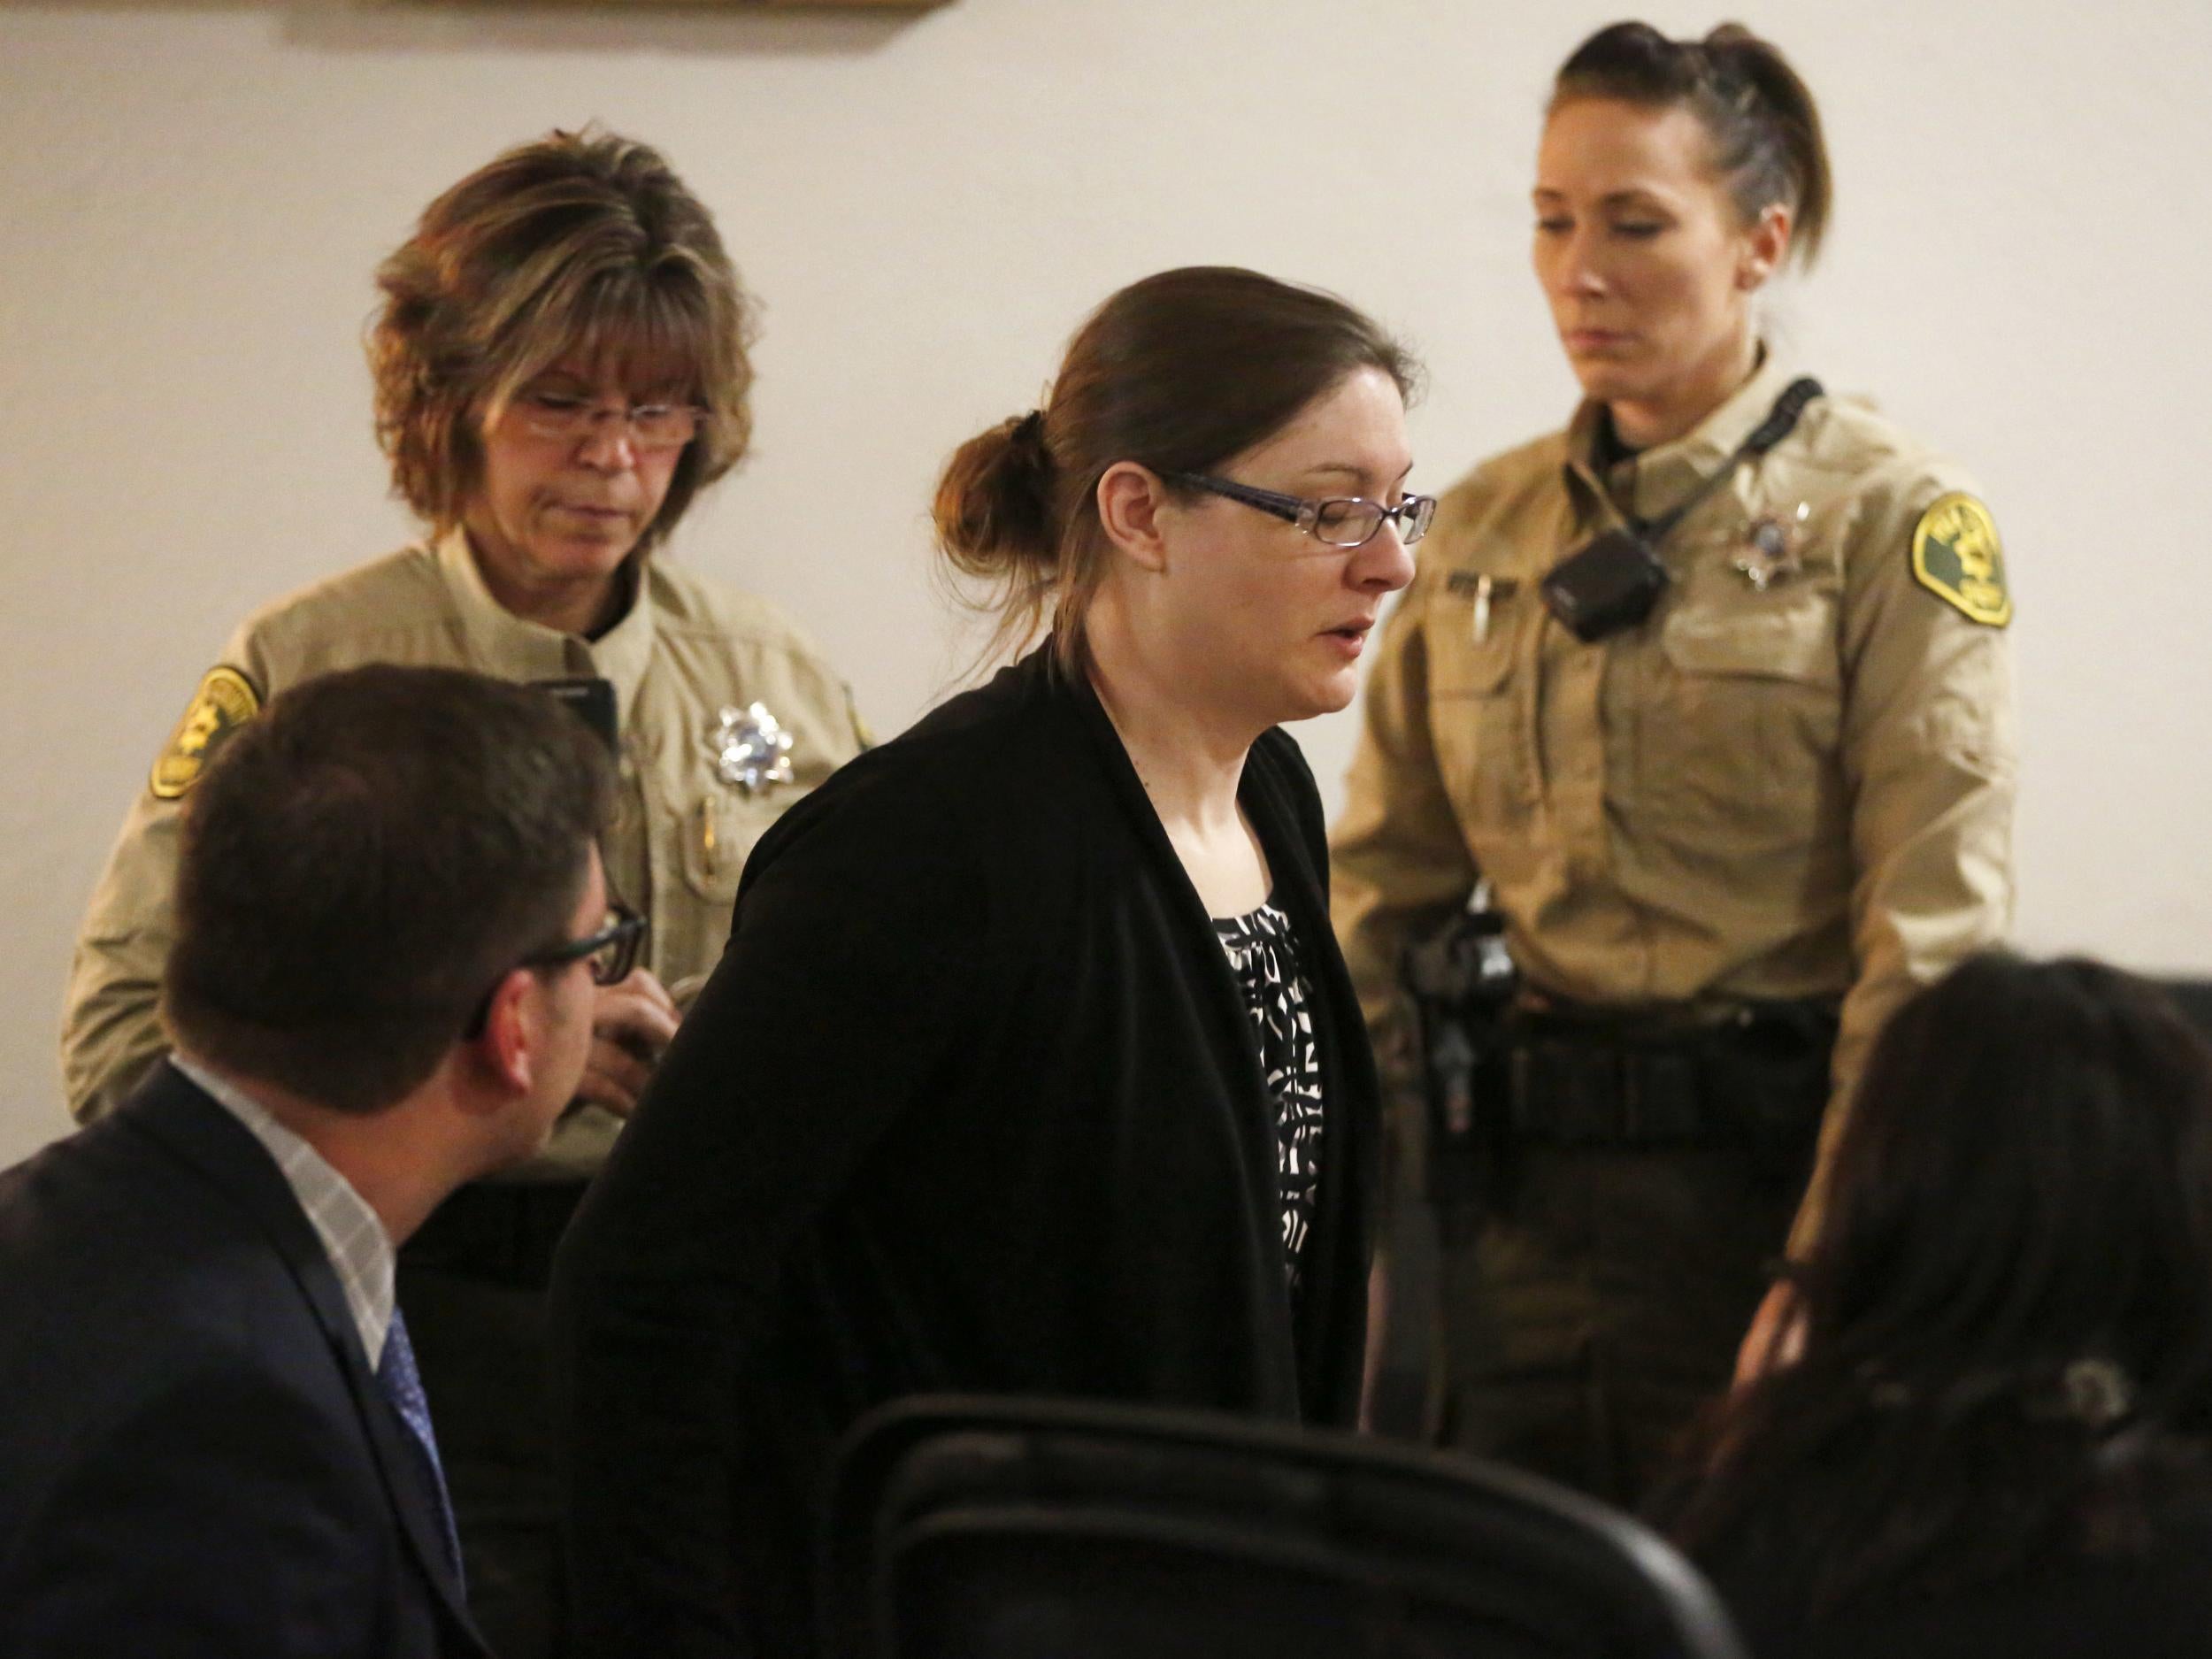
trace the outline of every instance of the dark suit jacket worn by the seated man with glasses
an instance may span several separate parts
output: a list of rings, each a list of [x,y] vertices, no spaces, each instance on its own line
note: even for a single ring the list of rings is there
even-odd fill
[[[274,1159],[161,1064],[0,1175],[0,1652],[482,1655]]]

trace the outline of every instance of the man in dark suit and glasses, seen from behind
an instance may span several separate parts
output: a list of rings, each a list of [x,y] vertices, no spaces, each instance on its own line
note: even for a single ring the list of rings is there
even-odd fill
[[[175,1057],[0,1175],[0,1652],[482,1655],[396,1245],[591,1051],[611,768],[551,697],[307,681],[192,783]]]

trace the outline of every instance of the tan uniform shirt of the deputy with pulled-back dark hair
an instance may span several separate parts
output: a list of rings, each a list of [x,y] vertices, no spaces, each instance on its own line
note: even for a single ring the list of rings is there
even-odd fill
[[[2011,606],[1951,462],[1818,398],[1666,538],[1672,582],[1644,624],[1586,646],[1537,593],[1590,535],[1661,518],[1725,467],[1792,378],[1770,356],[1604,480],[1588,405],[1444,498],[1383,630],[1334,841],[1336,927],[1378,1046],[1400,1040],[1407,936],[1480,872],[1540,991],[1843,995],[1825,1161],[1882,1018],[2004,936]]]

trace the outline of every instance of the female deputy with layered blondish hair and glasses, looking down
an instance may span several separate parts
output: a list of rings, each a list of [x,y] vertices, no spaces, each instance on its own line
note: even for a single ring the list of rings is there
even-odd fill
[[[93,894],[62,1068],[91,1117],[166,1046],[181,796],[265,699],[365,661],[440,664],[555,681],[602,728],[622,772],[608,887],[648,916],[646,967],[597,993],[591,1068],[551,1148],[520,1179],[462,1188],[398,1276],[471,1601],[502,1655],[529,1655],[551,1641],[557,1559],[535,1398],[553,1241],[686,982],[721,956],[754,838],[863,737],[781,611],[655,555],[743,456],[752,385],[750,301],[655,150],[602,133],[520,146],[438,197],[378,283],[376,427],[429,535],[232,635]]]

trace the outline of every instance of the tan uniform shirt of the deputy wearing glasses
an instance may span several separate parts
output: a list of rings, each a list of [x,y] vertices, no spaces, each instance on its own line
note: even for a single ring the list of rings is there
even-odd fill
[[[659,557],[644,562],[628,615],[582,639],[504,611],[453,533],[279,599],[232,635],[221,661],[263,701],[369,661],[613,681],[622,790],[606,874],[650,916],[646,964],[670,987],[719,960],[737,878],[761,832],[863,748],[845,681],[776,606]],[[792,732],[794,781],[748,796],[723,781],[708,739],[726,706],[754,701]],[[181,805],[139,792],[77,936],[62,1075],[80,1119],[117,1104],[168,1046],[157,998]],[[588,1175],[617,1128],[597,1106],[571,1108],[518,1179]]]

